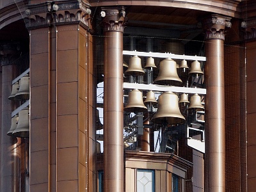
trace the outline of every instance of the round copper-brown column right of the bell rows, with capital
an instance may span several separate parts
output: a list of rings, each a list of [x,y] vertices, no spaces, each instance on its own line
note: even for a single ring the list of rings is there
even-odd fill
[[[205,191],[225,191],[224,40],[230,18],[205,19]]]

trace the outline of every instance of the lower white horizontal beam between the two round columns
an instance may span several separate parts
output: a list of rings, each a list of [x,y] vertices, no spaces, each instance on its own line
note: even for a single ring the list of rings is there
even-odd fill
[[[200,95],[206,94],[206,89],[202,89],[202,88],[164,86],[164,85],[158,85],[158,84],[124,83],[124,89],[151,90],[155,92],[177,92],[177,93],[194,93],[194,94],[198,93]]]

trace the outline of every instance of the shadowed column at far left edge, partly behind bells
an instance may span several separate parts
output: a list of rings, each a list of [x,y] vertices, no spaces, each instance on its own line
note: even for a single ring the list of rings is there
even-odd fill
[[[12,122],[15,103],[8,99],[12,92],[12,80],[17,76],[13,61],[19,58],[19,45],[0,45],[2,65],[2,124],[1,124],[1,190],[20,191],[20,138],[7,136]]]

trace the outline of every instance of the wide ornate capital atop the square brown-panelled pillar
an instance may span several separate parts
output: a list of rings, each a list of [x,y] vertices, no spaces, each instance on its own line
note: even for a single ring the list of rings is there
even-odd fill
[[[90,5],[83,1],[47,1],[29,4],[25,11],[26,26],[29,29],[51,25],[81,23],[90,29]]]

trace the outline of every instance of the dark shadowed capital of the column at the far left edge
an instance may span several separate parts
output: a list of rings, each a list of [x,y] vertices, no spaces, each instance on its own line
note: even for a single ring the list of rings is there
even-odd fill
[[[3,44],[0,45],[0,62],[1,65],[15,65],[15,60],[20,56],[20,44]]]

